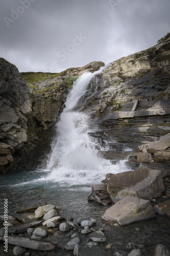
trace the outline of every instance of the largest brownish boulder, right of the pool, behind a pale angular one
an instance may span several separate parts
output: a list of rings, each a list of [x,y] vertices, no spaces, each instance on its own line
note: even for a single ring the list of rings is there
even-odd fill
[[[165,191],[165,186],[161,170],[143,167],[112,176],[107,190],[112,202],[116,203],[127,196],[152,200]]]

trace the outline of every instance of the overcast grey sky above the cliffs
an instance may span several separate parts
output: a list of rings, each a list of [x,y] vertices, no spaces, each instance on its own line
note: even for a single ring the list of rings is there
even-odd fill
[[[0,0],[0,57],[20,72],[109,63],[170,32],[169,0]]]

